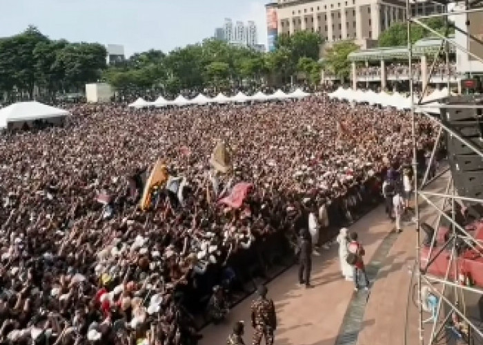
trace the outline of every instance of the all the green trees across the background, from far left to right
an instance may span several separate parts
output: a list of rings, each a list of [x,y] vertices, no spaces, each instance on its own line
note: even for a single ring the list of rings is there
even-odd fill
[[[426,21],[444,32],[440,18]],[[449,29],[453,30],[453,29]],[[411,31],[411,41],[431,35],[420,27]],[[380,35],[380,46],[407,44],[406,24],[395,23]],[[299,31],[277,39],[273,52],[230,45],[216,39],[177,48],[167,54],[159,50],[132,55],[106,65],[106,48],[99,43],[52,40],[30,26],[20,34],[0,39],[0,95],[9,101],[32,99],[39,88],[50,101],[61,94],[81,92],[86,83],[106,81],[119,92],[155,90],[176,95],[180,90],[224,90],[243,85],[289,83],[302,77],[319,83],[322,69],[341,79],[350,72],[347,55],[358,49],[352,41],[327,48],[319,60],[323,41],[317,32]]]

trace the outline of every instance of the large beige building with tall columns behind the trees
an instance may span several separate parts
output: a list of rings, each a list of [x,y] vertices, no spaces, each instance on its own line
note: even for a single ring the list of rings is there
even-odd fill
[[[421,3],[417,1],[420,15],[439,10]],[[411,1],[413,8],[416,1]],[[270,37],[302,30],[318,32],[329,43],[351,39],[370,48],[393,23],[406,20],[406,0],[277,0],[266,10],[269,49]]]

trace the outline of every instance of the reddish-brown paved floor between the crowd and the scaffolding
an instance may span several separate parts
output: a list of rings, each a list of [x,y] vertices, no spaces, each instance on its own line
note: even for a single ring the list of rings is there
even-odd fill
[[[442,191],[445,179],[441,180],[435,181],[431,190]],[[422,210],[422,219],[434,218],[431,211],[430,208]],[[408,223],[399,235],[391,234],[393,228],[394,224],[387,219],[382,206],[350,228],[350,231],[359,234],[366,248],[365,261],[371,266],[371,275],[377,274],[369,293],[364,290],[356,293],[353,282],[342,278],[337,245],[321,250],[319,257],[313,257],[314,288],[297,286],[297,266],[270,282],[268,297],[275,302],[278,319],[275,344],[419,344],[417,308],[411,299],[408,302],[408,293],[414,284],[411,283],[411,272],[416,245],[415,227]],[[248,297],[235,306],[223,324],[204,328],[204,339],[199,344],[226,344],[226,337],[237,320],[244,320],[244,341],[251,344],[252,299]]]

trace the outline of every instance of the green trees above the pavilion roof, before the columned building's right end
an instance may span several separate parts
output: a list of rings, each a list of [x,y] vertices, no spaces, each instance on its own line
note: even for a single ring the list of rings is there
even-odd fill
[[[423,20],[427,26],[436,30],[440,34],[445,32],[445,20],[440,17],[428,18]],[[454,28],[449,28],[449,33],[453,33]],[[420,39],[426,37],[434,36],[433,32],[426,30],[422,26],[413,25],[411,26],[411,42],[415,43]],[[407,46],[408,44],[408,31],[406,23],[395,23],[388,30],[385,30],[380,34],[379,46],[380,47],[396,47],[396,46]]]

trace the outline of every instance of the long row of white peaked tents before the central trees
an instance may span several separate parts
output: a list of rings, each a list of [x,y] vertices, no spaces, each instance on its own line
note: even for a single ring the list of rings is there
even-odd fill
[[[219,93],[216,97],[210,98],[206,97],[203,94],[197,95],[197,97],[193,99],[186,99],[182,95],[176,97],[176,99],[172,101],[168,101],[162,96],[159,96],[158,99],[154,102],[146,101],[142,98],[138,98],[134,103],[130,103],[129,106],[132,108],[146,108],[150,106],[155,107],[166,107],[166,106],[190,106],[190,105],[203,105],[208,103],[218,103],[218,104],[225,104],[225,103],[245,103],[250,101],[274,101],[280,99],[302,99],[304,97],[310,96],[310,93],[304,92],[303,90],[297,88],[294,92],[290,92],[286,94],[282,90],[277,90],[273,95],[265,95],[263,92],[259,91],[255,93],[255,95],[248,96],[245,95],[243,92],[238,92],[237,95],[233,97],[226,97],[222,93]]]

